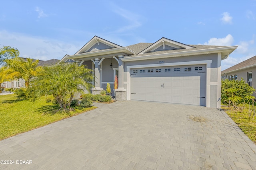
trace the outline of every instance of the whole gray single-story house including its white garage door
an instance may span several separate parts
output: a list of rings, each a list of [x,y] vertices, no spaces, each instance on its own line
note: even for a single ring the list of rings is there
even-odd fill
[[[237,47],[186,45],[164,37],[155,43],[122,47],[94,36],[77,53],[66,55],[60,62],[77,62],[93,69],[93,94],[110,83],[116,100],[216,108],[220,107],[221,60]]]

